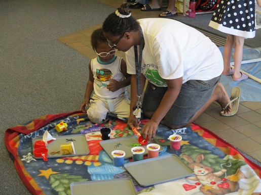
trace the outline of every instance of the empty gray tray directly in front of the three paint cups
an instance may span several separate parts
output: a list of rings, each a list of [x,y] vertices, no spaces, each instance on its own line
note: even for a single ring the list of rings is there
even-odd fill
[[[127,163],[124,167],[141,186],[194,175],[194,171],[174,154]]]

